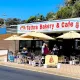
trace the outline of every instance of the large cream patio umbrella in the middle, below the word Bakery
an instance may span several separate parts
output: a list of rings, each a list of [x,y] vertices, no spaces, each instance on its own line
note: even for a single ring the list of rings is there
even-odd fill
[[[21,35],[23,38],[33,38],[39,40],[54,40],[54,38],[40,32],[28,32],[26,34]]]

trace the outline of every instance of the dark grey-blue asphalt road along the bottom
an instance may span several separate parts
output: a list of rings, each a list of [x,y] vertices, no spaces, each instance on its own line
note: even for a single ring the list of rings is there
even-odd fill
[[[77,80],[22,69],[0,66],[0,80]]]

